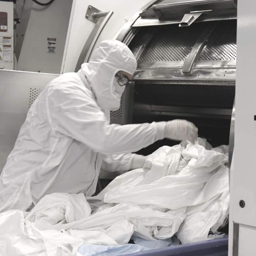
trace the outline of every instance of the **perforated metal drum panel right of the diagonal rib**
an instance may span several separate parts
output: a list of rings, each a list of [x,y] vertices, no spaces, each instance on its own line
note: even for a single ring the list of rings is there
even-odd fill
[[[206,42],[199,61],[236,59],[236,20],[222,21]]]

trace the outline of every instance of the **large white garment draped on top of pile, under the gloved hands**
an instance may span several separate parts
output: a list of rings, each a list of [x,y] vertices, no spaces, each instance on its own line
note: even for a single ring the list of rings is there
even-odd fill
[[[169,175],[176,172],[181,151],[189,162],[178,174]],[[104,203],[153,205],[171,210],[206,203],[224,190],[223,187],[222,190],[215,189],[217,179],[207,185],[210,186],[207,192],[204,187],[225,159],[224,154],[208,151],[199,145],[188,145],[183,150],[180,145],[164,146],[149,156],[144,169],[117,177],[98,196],[88,199],[101,199]]]

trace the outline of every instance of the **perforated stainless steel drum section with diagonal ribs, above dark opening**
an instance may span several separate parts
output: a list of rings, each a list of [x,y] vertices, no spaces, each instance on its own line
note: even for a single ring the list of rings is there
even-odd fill
[[[184,69],[181,75],[177,71],[174,79],[177,75],[182,79],[185,74],[186,79],[194,68],[200,70],[198,79],[205,73],[210,79],[235,79],[235,20],[194,23],[190,27],[142,27],[132,39],[130,47],[137,58],[137,70],[148,73],[150,69]],[[151,78],[155,78],[154,73]]]

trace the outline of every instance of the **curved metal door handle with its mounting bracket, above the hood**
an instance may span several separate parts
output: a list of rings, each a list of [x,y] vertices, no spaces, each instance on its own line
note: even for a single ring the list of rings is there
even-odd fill
[[[87,41],[85,42],[82,52],[80,53],[78,62],[75,67],[75,72],[81,68],[83,63],[89,61],[98,37],[100,36],[102,30],[104,29],[113,13],[113,11],[102,12],[91,5],[88,6],[85,18],[96,23],[96,25],[91,31]]]

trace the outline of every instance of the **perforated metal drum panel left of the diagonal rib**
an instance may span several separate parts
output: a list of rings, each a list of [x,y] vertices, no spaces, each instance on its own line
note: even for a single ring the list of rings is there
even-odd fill
[[[142,50],[138,62],[181,62],[187,59],[192,47],[207,23],[161,26]]]

